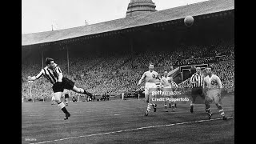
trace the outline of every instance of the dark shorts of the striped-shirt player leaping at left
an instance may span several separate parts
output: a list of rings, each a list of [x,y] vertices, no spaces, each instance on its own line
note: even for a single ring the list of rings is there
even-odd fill
[[[57,92],[63,92],[64,89],[66,90],[72,90],[74,87],[74,82],[71,81],[69,78],[62,78],[62,82],[56,82],[54,83],[53,90],[54,93]]]

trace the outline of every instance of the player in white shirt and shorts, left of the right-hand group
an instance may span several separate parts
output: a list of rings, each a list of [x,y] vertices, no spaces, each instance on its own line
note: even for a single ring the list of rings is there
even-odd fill
[[[153,106],[154,108],[154,112],[156,112],[157,110],[157,104],[154,104],[154,102],[152,101],[152,94],[149,94],[149,90],[150,88],[157,88],[155,82],[160,82],[160,78],[158,77],[158,72],[154,71],[154,65],[150,64],[148,71],[146,71],[143,75],[142,78],[138,81],[138,85],[139,86],[142,83],[142,80],[144,78],[146,78],[146,84],[145,84],[145,98],[146,98],[146,102],[148,103],[147,105],[147,109],[146,109],[146,113],[145,116],[147,116],[150,112],[150,106]],[[151,95],[151,96],[150,96]]]

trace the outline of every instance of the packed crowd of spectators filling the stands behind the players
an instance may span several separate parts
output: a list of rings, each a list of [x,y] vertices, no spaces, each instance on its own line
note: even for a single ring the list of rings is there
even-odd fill
[[[210,46],[179,46],[173,51],[146,51],[145,53],[108,52],[86,53],[82,57],[70,55],[70,74],[68,73],[65,58],[56,58],[55,61],[61,67],[64,76],[75,82],[76,86],[82,87],[95,95],[108,93],[118,95],[122,92],[136,91],[136,86],[143,72],[147,70],[149,63],[160,67],[158,73],[163,73],[162,66],[174,66],[169,70],[181,65],[214,63],[216,56],[226,55],[222,60],[234,60],[234,42],[216,42]],[[226,89],[234,90],[234,62],[219,62],[214,64],[214,73],[217,74]],[[42,62],[22,62],[22,97],[30,97],[30,83],[27,77],[38,74],[42,69]],[[125,70],[112,74],[116,70]],[[144,69],[144,70],[138,70]],[[143,86],[144,83],[142,83]],[[32,94],[36,97],[51,97],[51,84],[46,78],[40,78],[31,83]],[[190,87],[189,79],[178,84],[179,88]],[[189,90],[189,89],[184,89]],[[77,95],[70,90],[70,95]]]

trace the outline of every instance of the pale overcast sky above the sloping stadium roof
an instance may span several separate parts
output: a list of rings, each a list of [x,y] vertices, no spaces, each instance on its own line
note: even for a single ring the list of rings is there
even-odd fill
[[[206,0],[153,0],[156,10]],[[126,17],[130,0],[22,0],[22,34],[62,30]]]

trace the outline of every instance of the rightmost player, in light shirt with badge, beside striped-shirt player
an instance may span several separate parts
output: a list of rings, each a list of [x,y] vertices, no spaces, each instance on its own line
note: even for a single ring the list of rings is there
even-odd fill
[[[224,110],[221,105],[221,93],[222,93],[222,82],[217,75],[212,74],[212,67],[206,67],[206,78],[203,80],[203,93],[205,94],[206,113],[208,119],[212,116],[210,110],[210,103],[214,100],[215,105],[218,108],[218,112],[221,114],[222,119],[226,120]]]

